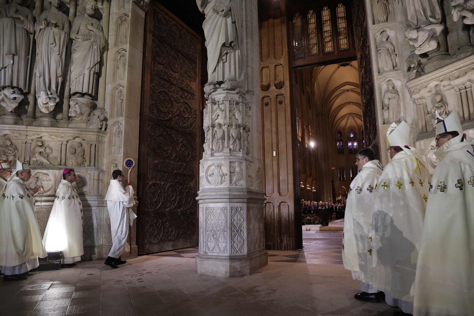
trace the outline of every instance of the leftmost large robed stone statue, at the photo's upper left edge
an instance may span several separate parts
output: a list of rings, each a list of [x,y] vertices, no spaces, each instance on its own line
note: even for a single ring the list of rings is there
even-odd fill
[[[22,0],[10,0],[0,8],[0,99],[1,105],[9,112],[23,99],[21,93],[28,90],[33,13],[21,3]]]

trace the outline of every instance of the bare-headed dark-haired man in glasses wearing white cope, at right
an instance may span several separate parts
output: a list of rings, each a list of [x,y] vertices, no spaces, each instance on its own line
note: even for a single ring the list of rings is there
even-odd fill
[[[356,165],[359,173],[351,182],[347,196],[342,261],[344,268],[352,271],[353,279],[361,281],[362,292],[356,293],[354,298],[372,303],[383,302],[384,293],[372,286],[372,260],[367,252],[374,188],[383,166],[370,148],[356,153]]]

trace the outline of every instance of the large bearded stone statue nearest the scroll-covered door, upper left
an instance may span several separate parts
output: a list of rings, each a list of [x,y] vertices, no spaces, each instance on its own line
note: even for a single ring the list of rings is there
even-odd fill
[[[93,18],[97,3],[84,0],[83,6],[86,13],[74,18],[71,29],[71,95],[91,98],[97,92],[100,55],[106,39],[100,22]]]

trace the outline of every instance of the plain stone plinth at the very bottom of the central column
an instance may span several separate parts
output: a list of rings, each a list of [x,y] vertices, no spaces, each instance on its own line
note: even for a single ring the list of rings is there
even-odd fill
[[[223,278],[248,276],[268,264],[267,252],[264,250],[243,256],[198,254],[195,260],[197,274]]]

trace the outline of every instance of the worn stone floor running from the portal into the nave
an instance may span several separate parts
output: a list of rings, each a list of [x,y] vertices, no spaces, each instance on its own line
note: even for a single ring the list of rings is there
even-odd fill
[[[301,251],[269,251],[268,265],[242,278],[194,272],[196,248],[140,256],[119,269],[102,261],[0,280],[0,315],[374,315],[385,303],[353,298],[359,282],[344,270],[342,232],[303,232]]]

